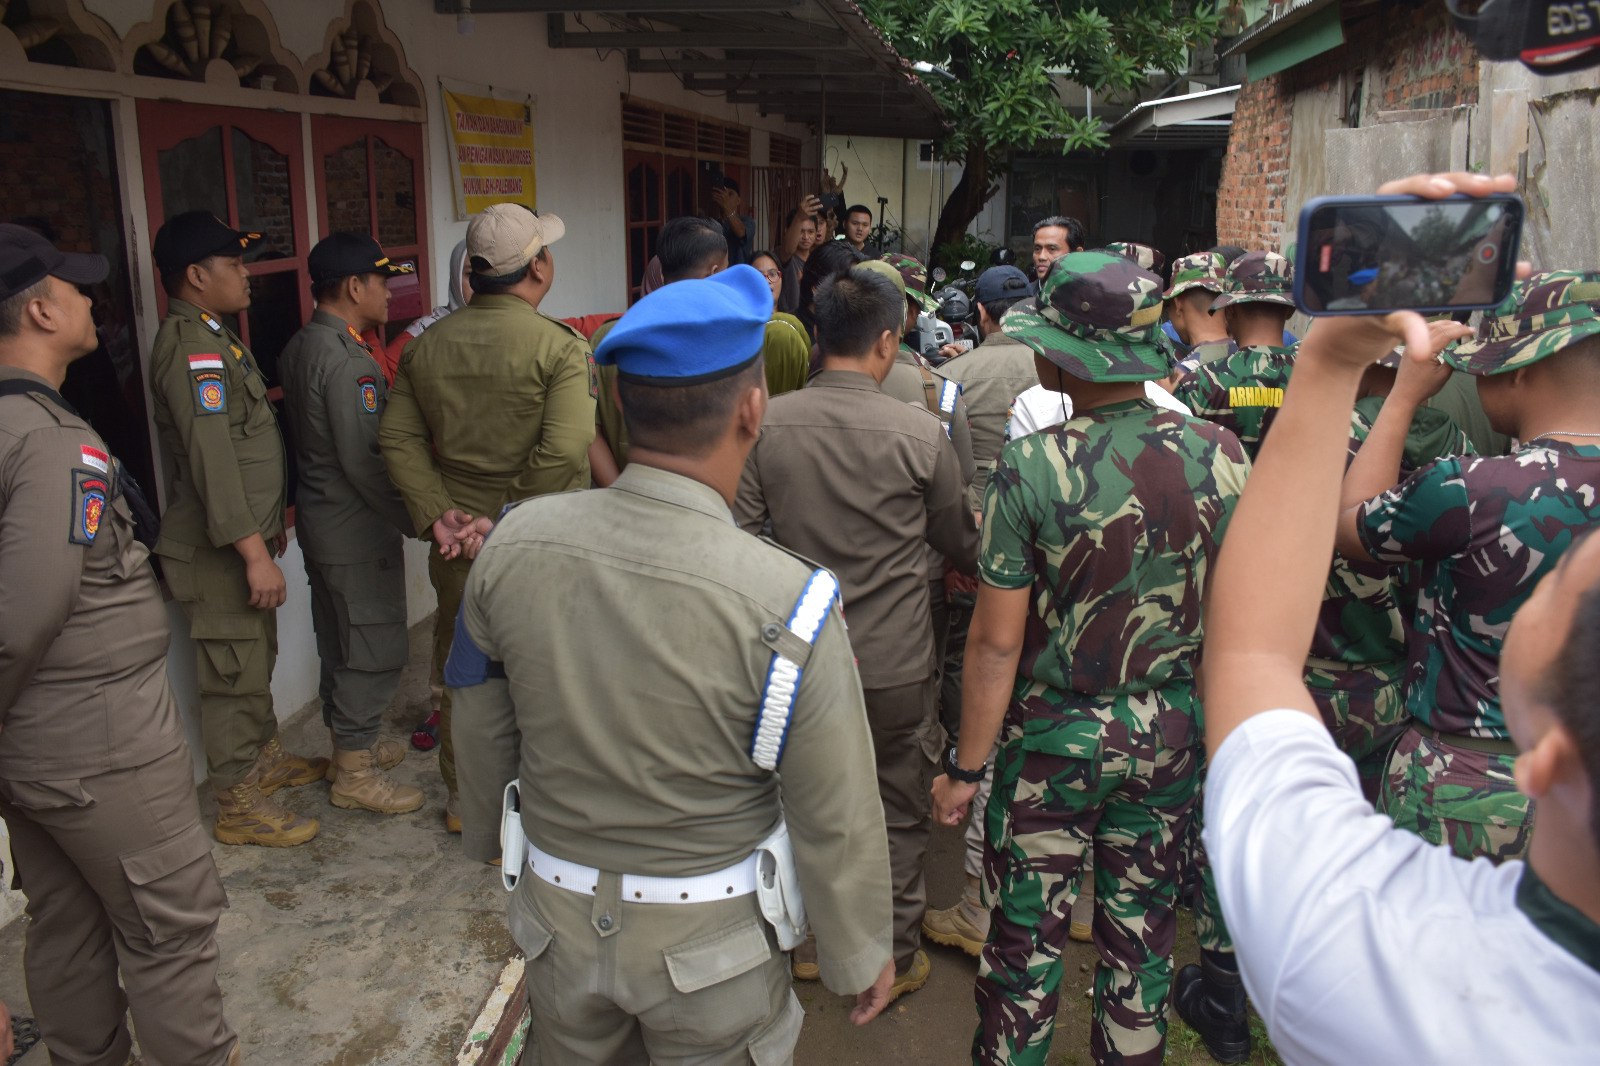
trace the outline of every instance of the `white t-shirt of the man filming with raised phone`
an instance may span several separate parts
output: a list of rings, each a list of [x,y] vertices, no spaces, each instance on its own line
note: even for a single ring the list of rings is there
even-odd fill
[[[1523,863],[1467,863],[1373,813],[1312,715],[1269,711],[1229,735],[1205,845],[1285,1063],[1600,1063],[1600,928]]]

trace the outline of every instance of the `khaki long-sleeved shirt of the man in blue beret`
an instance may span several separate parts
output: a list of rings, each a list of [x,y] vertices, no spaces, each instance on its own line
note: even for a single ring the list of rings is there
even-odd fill
[[[890,959],[888,837],[838,608],[810,648],[787,629],[811,573],[656,467],[509,512],[461,602],[496,664],[451,690],[467,853],[499,855],[514,776],[536,847],[618,874],[725,869],[782,816],[824,980],[869,986]],[[803,666],[776,773],[749,754],[774,650]]]

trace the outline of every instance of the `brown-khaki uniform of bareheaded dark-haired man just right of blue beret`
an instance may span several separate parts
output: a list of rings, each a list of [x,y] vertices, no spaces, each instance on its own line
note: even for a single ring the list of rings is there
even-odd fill
[[[922,943],[928,789],[944,744],[928,547],[971,573],[978,527],[944,427],[864,375],[824,370],[766,408],[734,514],[838,576],[866,687],[894,871],[894,962]]]

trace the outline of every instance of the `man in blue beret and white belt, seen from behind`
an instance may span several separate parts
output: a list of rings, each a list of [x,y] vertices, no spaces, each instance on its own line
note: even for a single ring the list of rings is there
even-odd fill
[[[888,839],[838,581],[730,512],[771,306],[747,266],[638,301],[595,352],[627,467],[512,507],[467,579],[445,669],[462,844],[501,855],[518,779],[509,924],[538,1061],[790,1061],[784,952],[808,924],[858,1024],[890,997]]]

